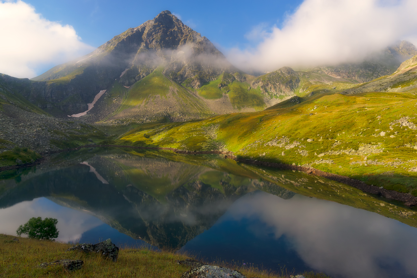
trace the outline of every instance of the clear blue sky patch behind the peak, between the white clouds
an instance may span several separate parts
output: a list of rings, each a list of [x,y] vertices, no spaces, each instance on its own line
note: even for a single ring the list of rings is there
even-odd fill
[[[114,1],[29,0],[50,21],[72,25],[82,41],[98,47],[130,27],[141,25],[163,10],[220,48],[244,47],[245,34],[259,24],[280,25],[301,0],[293,1]]]

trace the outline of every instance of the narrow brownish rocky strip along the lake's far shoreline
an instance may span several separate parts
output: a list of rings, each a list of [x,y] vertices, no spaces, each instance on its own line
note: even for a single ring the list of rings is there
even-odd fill
[[[304,167],[304,166],[297,166],[297,165],[290,165],[290,164],[281,164],[281,163],[274,163],[274,162],[266,162],[266,161],[258,161],[253,159],[239,159],[237,158],[232,151],[183,151],[180,149],[175,148],[166,148],[166,147],[143,147],[143,146],[128,146],[128,145],[84,145],[84,146],[78,146],[76,148],[70,148],[70,149],[61,149],[58,151],[45,151],[41,152],[40,154],[43,156],[41,159],[38,159],[35,162],[29,163],[29,164],[20,164],[20,165],[13,165],[13,166],[3,166],[0,167],[0,171],[6,171],[6,170],[13,170],[13,169],[19,169],[24,167],[30,167],[35,166],[38,164],[41,164],[46,159],[44,156],[48,156],[50,154],[57,154],[65,151],[76,151],[83,148],[97,148],[97,147],[116,147],[116,148],[130,148],[130,149],[151,149],[151,150],[168,150],[173,151],[177,154],[224,154],[224,158],[233,159],[237,162],[246,163],[246,164],[253,164],[258,166],[266,166],[271,167],[275,169],[283,169],[283,170],[295,170],[300,171],[305,174],[320,176],[326,179],[330,179],[333,181],[339,181],[343,184],[347,184],[349,186],[355,187],[357,189],[362,190],[364,193],[370,193],[378,196],[383,196],[387,199],[392,199],[396,201],[404,202],[405,206],[417,206],[417,197],[414,197],[407,193],[401,193],[394,190],[388,190],[384,188],[379,188],[378,186],[372,186],[369,184],[364,183],[363,181],[352,179],[347,176],[341,176],[338,174],[332,174],[329,172],[324,172],[312,167]]]

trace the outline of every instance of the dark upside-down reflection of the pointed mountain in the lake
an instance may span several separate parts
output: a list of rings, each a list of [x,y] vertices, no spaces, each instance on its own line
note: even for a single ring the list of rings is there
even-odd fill
[[[131,238],[178,250],[209,229],[240,196],[265,186],[284,198],[294,196],[270,182],[207,166],[111,154],[9,180],[0,207],[48,197]]]

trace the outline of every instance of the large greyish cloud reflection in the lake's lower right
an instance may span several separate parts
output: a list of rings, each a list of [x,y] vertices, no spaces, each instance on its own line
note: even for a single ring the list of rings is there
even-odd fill
[[[256,237],[286,236],[304,262],[333,277],[416,277],[417,229],[377,213],[296,195],[284,200],[256,192],[236,201],[221,218],[256,217]]]

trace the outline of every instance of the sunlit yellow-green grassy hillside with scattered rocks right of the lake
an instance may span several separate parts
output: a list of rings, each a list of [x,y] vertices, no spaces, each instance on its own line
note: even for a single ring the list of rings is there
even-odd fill
[[[411,93],[321,94],[289,108],[142,125],[117,143],[229,150],[416,194],[416,103]]]

